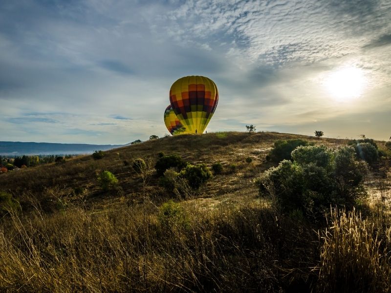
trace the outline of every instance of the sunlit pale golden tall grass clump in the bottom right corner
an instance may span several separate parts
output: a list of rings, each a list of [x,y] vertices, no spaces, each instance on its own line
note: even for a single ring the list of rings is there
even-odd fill
[[[320,284],[323,292],[390,292],[391,228],[363,220],[355,210],[331,213],[322,238]]]

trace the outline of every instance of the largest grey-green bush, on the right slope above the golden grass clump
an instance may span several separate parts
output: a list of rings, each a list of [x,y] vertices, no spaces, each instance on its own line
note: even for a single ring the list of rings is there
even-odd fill
[[[331,206],[350,209],[363,192],[365,165],[350,146],[300,146],[293,161],[283,160],[258,180],[261,196],[274,196],[286,213],[301,210],[307,217],[323,218]]]

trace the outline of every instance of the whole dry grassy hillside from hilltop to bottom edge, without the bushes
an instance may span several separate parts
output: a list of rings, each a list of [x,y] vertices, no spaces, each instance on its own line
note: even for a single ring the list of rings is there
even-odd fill
[[[278,165],[266,160],[274,143],[297,138],[348,143],[181,135],[1,174],[0,191],[20,207],[2,212],[0,291],[389,292],[390,160],[369,168],[363,216],[331,209],[327,221],[313,221],[282,212],[256,184]],[[199,190],[173,193],[159,185],[159,152],[223,170]],[[143,176],[131,167],[136,158],[146,162]],[[104,170],[115,188],[100,187]]]

